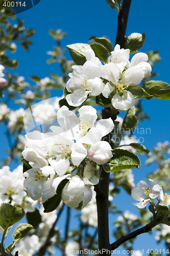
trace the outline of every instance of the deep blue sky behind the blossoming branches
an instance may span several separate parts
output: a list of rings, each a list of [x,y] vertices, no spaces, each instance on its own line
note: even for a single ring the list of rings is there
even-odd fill
[[[127,36],[133,32],[144,32],[146,34],[145,44],[139,51],[160,51],[162,60],[154,67],[154,72],[159,73],[159,77],[156,80],[163,80],[167,83],[170,83],[169,9],[169,0],[162,1],[161,4],[159,0],[132,0],[126,34]],[[86,43],[92,35],[108,36],[114,45],[117,12],[115,9],[111,9],[105,0],[86,0],[85,2],[80,0],[41,0],[34,8],[17,14],[17,17],[25,20],[26,28],[34,28],[36,30],[36,34],[33,37],[34,45],[30,47],[30,51],[25,52],[18,48],[17,52],[12,55],[13,58],[19,60],[19,67],[15,72],[20,76],[25,76],[26,81],[29,81],[31,75],[38,75],[44,78],[51,73],[60,72],[56,63],[52,65],[46,64],[46,60],[49,58],[46,52],[52,50],[54,45],[52,37],[48,35],[49,29],[62,29],[68,33],[67,37],[62,41],[63,47],[76,42]],[[70,59],[68,51],[66,51],[66,56]],[[56,91],[56,95],[53,96],[60,95]],[[151,150],[158,141],[169,140],[169,101],[158,99],[148,101],[143,99],[142,105],[144,112],[148,112],[150,120],[143,121],[139,127],[151,129],[151,133],[143,135],[143,144]],[[142,159],[144,158],[142,157]],[[153,170],[154,166],[149,169],[142,163],[139,170],[134,170],[135,183],[144,179]],[[123,209],[128,208],[137,213],[135,206],[131,204],[133,200],[128,197],[129,201],[125,202],[124,196],[124,194],[119,196],[114,203],[120,202],[120,207]],[[142,244],[143,241],[145,248],[153,248],[152,245],[154,248],[163,248],[162,246],[156,246],[154,242],[150,245],[150,242],[147,242],[148,238],[150,238],[149,235],[142,235],[138,238],[135,249],[138,249],[138,245]]]

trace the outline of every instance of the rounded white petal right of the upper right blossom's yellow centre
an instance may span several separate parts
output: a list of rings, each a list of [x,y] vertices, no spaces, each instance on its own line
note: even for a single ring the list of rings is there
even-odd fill
[[[136,86],[144,77],[143,71],[138,67],[131,67],[127,69],[122,77],[122,83],[125,86]]]

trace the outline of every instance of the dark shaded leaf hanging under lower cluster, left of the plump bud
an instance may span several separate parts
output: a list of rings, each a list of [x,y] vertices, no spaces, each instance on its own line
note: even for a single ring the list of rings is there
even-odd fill
[[[62,180],[60,182],[60,184],[57,187],[57,191],[56,191],[56,195],[52,198],[47,199],[44,203],[43,203],[43,207],[44,207],[44,212],[51,212],[54,211],[60,204],[61,202],[61,194],[62,194],[62,190],[65,186],[65,184],[68,182],[67,179]]]

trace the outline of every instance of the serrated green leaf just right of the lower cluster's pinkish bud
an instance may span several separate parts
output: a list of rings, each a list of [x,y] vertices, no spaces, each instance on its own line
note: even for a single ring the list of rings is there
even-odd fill
[[[105,172],[110,173],[116,170],[139,168],[140,160],[138,156],[131,151],[115,148],[112,153],[113,157],[110,159],[109,163],[103,164]]]

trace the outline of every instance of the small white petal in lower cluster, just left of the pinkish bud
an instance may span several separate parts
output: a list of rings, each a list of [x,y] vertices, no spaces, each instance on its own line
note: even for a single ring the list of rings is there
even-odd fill
[[[87,150],[82,145],[81,142],[76,142],[71,147],[72,153],[71,153],[71,161],[75,165],[80,165],[80,163],[84,160],[84,158],[87,156]]]

